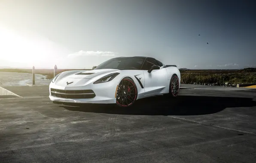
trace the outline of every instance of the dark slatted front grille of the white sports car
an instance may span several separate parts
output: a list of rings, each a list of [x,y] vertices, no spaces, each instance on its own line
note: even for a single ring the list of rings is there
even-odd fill
[[[51,88],[51,95],[64,99],[91,99],[96,96],[92,90],[60,90],[53,88]]]

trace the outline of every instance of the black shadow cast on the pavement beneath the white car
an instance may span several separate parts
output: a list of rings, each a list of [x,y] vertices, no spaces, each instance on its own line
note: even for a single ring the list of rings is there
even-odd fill
[[[64,103],[61,107],[77,112],[94,112],[119,115],[207,115],[226,108],[252,107],[256,101],[240,97],[183,96],[168,98],[164,96],[148,97],[137,100],[130,107],[116,104],[73,104]]]

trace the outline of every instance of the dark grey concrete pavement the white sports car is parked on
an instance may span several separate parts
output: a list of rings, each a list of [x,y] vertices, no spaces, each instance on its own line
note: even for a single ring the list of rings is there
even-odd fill
[[[129,109],[5,87],[22,98],[0,99],[0,163],[255,163],[256,89],[182,86]]]

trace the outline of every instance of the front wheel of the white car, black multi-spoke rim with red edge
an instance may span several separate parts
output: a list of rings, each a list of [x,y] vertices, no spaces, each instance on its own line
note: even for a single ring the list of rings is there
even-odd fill
[[[116,92],[116,103],[119,106],[130,106],[137,98],[137,88],[129,79],[122,79]]]

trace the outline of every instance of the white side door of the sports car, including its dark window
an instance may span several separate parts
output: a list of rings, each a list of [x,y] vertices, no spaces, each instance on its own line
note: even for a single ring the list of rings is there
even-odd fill
[[[165,68],[154,69],[152,72],[148,72],[154,65],[158,65],[157,61],[154,58],[147,58],[142,66],[145,78],[145,96],[158,94],[168,85],[167,71]]]

